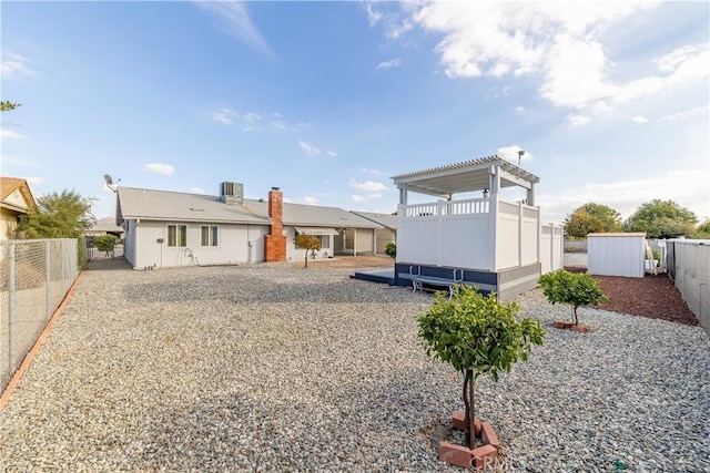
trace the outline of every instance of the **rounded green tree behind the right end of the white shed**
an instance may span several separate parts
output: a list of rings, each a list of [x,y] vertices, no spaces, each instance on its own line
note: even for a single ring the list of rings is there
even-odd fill
[[[673,200],[658,198],[641,205],[625,223],[627,232],[646,232],[649,238],[693,235],[698,217]]]

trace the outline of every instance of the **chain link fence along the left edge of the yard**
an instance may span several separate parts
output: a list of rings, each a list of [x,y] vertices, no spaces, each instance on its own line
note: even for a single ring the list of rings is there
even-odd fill
[[[77,239],[0,241],[0,392],[79,276]]]

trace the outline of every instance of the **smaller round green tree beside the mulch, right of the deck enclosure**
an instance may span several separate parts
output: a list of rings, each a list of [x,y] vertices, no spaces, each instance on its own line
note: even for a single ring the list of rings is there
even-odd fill
[[[538,281],[542,294],[551,304],[569,304],[572,307],[572,322],[579,325],[577,308],[604,304],[607,296],[599,288],[599,284],[589,273],[569,273],[566,269],[542,275]]]

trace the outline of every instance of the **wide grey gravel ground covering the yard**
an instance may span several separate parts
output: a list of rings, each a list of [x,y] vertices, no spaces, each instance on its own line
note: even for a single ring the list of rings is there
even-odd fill
[[[463,405],[416,338],[429,294],[346,269],[101,264],[0,413],[4,471],[460,471],[432,446]],[[701,328],[580,309],[580,335],[551,328],[569,308],[539,290],[518,302],[548,336],[477,384],[501,471],[710,472]]]

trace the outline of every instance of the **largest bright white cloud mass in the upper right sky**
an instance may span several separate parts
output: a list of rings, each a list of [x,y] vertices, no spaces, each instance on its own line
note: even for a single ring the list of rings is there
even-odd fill
[[[542,79],[540,95],[575,111],[571,126],[621,103],[669,88],[707,80],[710,49],[688,44],[647,58],[636,78],[611,79],[618,48],[607,47],[606,31],[655,0],[625,2],[426,2],[403,8],[424,30],[442,34],[435,51],[452,78],[530,74]]]

